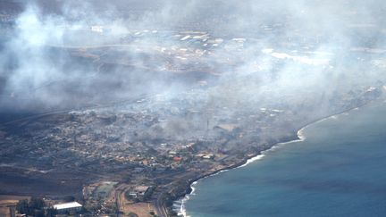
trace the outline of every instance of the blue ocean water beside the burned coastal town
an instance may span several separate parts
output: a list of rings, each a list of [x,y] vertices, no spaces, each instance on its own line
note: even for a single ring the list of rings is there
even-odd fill
[[[189,216],[386,216],[386,104],[319,121],[304,141],[201,179]]]

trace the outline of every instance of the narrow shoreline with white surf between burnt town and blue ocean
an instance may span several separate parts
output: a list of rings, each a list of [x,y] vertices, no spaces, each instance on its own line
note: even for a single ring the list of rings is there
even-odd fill
[[[368,102],[367,104],[370,104],[370,103],[371,102]],[[363,107],[363,106],[365,106],[367,104],[361,104],[361,105],[358,105],[357,107],[350,108],[350,109],[345,110],[343,112],[334,113],[334,114],[331,114],[331,115],[319,118],[319,119],[317,119],[315,121],[310,121],[309,123],[306,123],[305,125],[303,125],[303,127],[301,127],[300,129],[298,129],[298,131],[296,133],[296,137],[294,137],[293,139],[290,139],[290,140],[288,140],[288,138],[283,139],[283,141],[274,143],[272,146],[270,146],[270,147],[268,147],[268,148],[266,148],[266,149],[264,149],[262,151],[259,151],[257,154],[255,154],[255,155],[253,155],[251,157],[243,159],[240,163],[235,163],[235,164],[233,164],[233,165],[231,165],[229,167],[226,167],[226,168],[223,168],[223,169],[220,169],[220,170],[217,170],[217,171],[213,171],[213,172],[211,172],[209,174],[201,175],[201,176],[197,177],[196,179],[189,180],[189,188],[186,190],[187,193],[184,194],[184,196],[180,196],[180,198],[178,198],[177,200],[174,200],[172,206],[174,206],[174,204],[176,202],[180,203],[180,209],[179,209],[178,215],[179,216],[182,215],[183,217],[189,217],[189,215],[186,213],[186,209],[185,209],[184,204],[189,200],[189,196],[194,195],[194,192],[196,190],[196,188],[194,188],[194,186],[197,185],[197,182],[199,180],[206,179],[206,178],[212,177],[212,176],[216,176],[216,175],[218,175],[218,174],[220,174],[222,172],[231,171],[232,169],[237,169],[237,168],[245,167],[249,163],[254,163],[254,162],[258,161],[258,160],[261,160],[265,156],[264,153],[272,151],[273,149],[278,148],[279,146],[287,145],[287,144],[295,143],[295,142],[303,142],[303,141],[306,140],[306,137],[304,136],[303,131],[306,128],[308,128],[309,126],[311,126],[313,124],[316,124],[316,123],[319,123],[319,122],[322,122],[322,121],[329,120],[329,119],[336,119],[337,116],[340,116],[340,115],[346,114],[346,113],[350,113],[352,111],[357,111],[359,108],[361,108],[361,107]]]

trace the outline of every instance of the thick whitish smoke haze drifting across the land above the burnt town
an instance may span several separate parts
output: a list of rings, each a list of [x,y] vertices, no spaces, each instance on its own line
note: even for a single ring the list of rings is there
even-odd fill
[[[384,81],[382,1],[15,5],[21,9],[2,30],[3,111],[172,98],[190,88],[224,106],[283,100],[328,107],[337,91]]]

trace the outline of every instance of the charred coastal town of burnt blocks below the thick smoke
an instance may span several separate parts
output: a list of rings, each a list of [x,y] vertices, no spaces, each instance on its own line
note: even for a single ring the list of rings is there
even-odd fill
[[[342,95],[340,107],[330,113],[366,104],[384,90],[356,91],[362,91],[355,95],[361,97]],[[18,172],[17,179],[36,183],[34,188],[17,187],[23,192],[40,195],[43,189],[38,186],[44,181],[44,196],[74,196],[85,214],[170,216],[176,214],[172,201],[189,193],[194,180],[237,167],[278,142],[297,139],[297,130],[315,121],[285,104],[234,116],[223,104],[203,110],[204,103],[196,102],[206,98],[201,94],[183,93],[175,100],[157,95],[113,110],[86,109],[4,125],[1,171],[9,180],[2,193],[13,194],[12,174]]]

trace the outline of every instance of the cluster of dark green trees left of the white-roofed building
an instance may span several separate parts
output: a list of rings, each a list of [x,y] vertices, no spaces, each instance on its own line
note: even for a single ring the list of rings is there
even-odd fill
[[[21,214],[27,214],[35,217],[55,217],[56,209],[51,205],[46,207],[45,201],[33,196],[30,200],[24,199],[16,204],[16,210]]]

